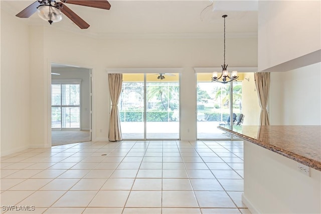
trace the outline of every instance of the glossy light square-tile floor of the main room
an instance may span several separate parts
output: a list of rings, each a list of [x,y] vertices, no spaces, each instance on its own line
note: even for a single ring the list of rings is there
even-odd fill
[[[2,213],[250,213],[242,192],[242,141],[99,141],[1,157]]]

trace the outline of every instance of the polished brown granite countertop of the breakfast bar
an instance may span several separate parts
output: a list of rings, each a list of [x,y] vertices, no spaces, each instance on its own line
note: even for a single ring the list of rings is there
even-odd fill
[[[221,130],[321,171],[321,126],[219,126]]]

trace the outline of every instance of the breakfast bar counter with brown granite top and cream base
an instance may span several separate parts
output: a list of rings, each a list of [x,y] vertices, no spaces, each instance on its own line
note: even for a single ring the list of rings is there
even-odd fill
[[[244,139],[242,201],[252,213],[321,213],[321,126],[218,128]]]

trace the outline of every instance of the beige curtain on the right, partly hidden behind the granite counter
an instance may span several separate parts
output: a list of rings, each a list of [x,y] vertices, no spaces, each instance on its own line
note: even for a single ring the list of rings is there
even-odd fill
[[[259,98],[259,104],[261,107],[260,125],[270,125],[269,115],[267,112],[267,102],[269,99],[270,88],[270,73],[258,72],[254,73],[255,87],[257,96]]]

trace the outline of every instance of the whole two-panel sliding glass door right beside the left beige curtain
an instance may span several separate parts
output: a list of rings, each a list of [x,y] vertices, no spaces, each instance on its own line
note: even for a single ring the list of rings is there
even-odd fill
[[[123,74],[123,139],[179,139],[179,74]]]

